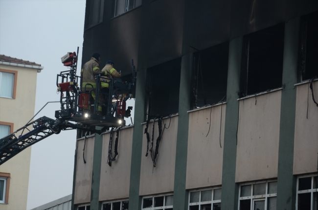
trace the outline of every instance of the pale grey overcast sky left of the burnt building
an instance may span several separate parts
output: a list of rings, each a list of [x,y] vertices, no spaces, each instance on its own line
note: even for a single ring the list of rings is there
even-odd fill
[[[59,100],[56,75],[67,70],[61,57],[79,46],[78,69],[82,66],[85,4],[85,0],[0,0],[0,54],[44,67],[37,75],[35,113],[46,102]],[[59,108],[58,103],[48,104],[35,118],[55,118]],[[126,121],[129,124],[130,119]],[[32,146],[27,210],[72,193],[75,143],[76,131],[62,131]]]

